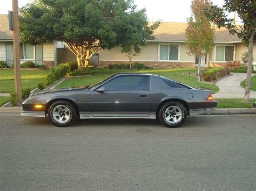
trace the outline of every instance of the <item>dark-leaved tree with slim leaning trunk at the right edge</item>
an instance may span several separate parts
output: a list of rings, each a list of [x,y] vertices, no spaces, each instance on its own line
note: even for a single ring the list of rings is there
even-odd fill
[[[227,18],[226,12],[237,12],[242,20],[242,25],[237,25],[234,19]],[[204,9],[205,16],[212,20],[218,27],[226,27],[230,34],[237,34],[249,49],[249,61],[247,67],[247,78],[244,102],[249,102],[252,75],[252,53],[255,42],[256,30],[256,1],[255,0],[225,0],[223,8],[217,5],[208,6]]]

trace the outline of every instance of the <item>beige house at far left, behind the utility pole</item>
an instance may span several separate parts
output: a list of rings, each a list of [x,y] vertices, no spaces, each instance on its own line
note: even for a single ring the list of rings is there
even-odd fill
[[[9,30],[8,16],[0,15],[0,61],[6,61],[9,66],[13,65],[12,51],[12,31]],[[33,61],[38,65],[44,64],[47,67],[57,65],[56,50],[58,47],[64,47],[64,43],[52,41],[32,46],[21,43],[21,63]]]

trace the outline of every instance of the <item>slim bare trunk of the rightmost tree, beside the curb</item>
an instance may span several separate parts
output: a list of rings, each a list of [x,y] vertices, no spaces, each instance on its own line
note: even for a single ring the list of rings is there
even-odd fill
[[[247,66],[247,78],[245,87],[245,96],[243,102],[248,103],[250,100],[250,89],[251,89],[251,76],[252,76],[252,52],[253,52],[253,40],[255,35],[255,29],[252,31],[252,36],[249,41],[249,62]]]

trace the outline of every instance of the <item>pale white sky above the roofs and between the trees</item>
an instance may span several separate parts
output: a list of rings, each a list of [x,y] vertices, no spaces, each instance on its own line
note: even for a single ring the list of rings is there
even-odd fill
[[[12,10],[11,0],[0,0],[0,14],[8,14]],[[31,3],[33,0],[18,0],[19,8]],[[214,5],[223,6],[223,0],[212,0]],[[161,20],[162,22],[186,22],[191,16],[191,0],[134,0],[137,9],[146,9],[149,20]],[[234,14],[229,15],[233,18]]]

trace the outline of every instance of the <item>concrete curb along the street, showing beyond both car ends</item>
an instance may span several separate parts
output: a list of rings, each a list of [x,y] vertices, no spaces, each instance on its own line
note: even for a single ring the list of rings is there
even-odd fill
[[[21,113],[22,108],[0,108],[1,114],[10,114],[10,113]],[[209,115],[233,115],[233,114],[256,114],[256,108],[227,108],[227,109],[216,109]]]

